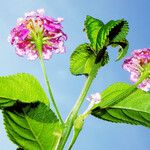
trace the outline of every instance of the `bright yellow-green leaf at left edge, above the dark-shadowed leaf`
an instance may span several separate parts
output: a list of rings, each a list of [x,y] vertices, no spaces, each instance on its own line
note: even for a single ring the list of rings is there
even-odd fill
[[[44,90],[34,76],[21,73],[0,77],[0,108],[12,106],[16,101],[49,104]]]

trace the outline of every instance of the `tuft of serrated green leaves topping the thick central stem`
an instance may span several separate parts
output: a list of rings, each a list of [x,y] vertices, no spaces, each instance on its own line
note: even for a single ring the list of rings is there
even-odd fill
[[[70,58],[70,71],[74,75],[91,73],[96,76],[98,69],[109,61],[109,45],[120,47],[117,60],[126,55],[128,41],[125,38],[128,33],[128,22],[124,19],[111,20],[104,25],[102,21],[87,16],[84,26],[91,43],[81,44],[75,49]]]

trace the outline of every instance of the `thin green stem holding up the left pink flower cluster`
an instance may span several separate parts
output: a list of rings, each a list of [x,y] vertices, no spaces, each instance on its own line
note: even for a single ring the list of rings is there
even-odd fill
[[[48,80],[48,76],[47,76],[47,73],[46,73],[46,68],[45,68],[45,65],[44,65],[43,57],[42,57],[42,43],[41,43],[41,38],[37,39],[37,41],[36,41],[36,47],[38,49],[39,60],[40,60],[42,72],[43,72],[43,75],[44,75],[44,79],[45,79],[45,82],[46,82],[46,85],[47,85],[47,88],[48,88],[49,96],[50,96],[50,98],[52,100],[53,106],[55,108],[55,111],[57,113],[57,116],[58,116],[61,124],[64,124],[64,122],[62,120],[62,117],[61,117],[61,115],[59,113],[59,110],[57,108],[57,105],[56,105],[56,102],[55,102],[55,99],[54,99],[54,96],[53,96],[53,93],[52,93],[52,90],[51,90],[51,87],[50,87],[50,83],[49,83],[49,80]]]

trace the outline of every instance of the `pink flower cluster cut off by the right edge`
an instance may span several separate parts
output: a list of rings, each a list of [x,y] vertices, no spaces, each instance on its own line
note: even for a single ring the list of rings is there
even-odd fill
[[[124,61],[123,68],[131,73],[130,80],[137,82],[148,63],[150,63],[150,48],[139,49],[134,50],[132,56]],[[149,91],[150,78],[143,80],[138,87],[144,91]]]

